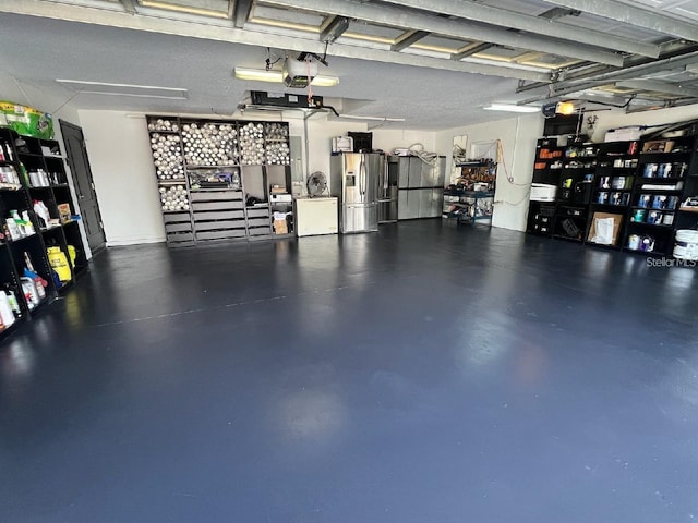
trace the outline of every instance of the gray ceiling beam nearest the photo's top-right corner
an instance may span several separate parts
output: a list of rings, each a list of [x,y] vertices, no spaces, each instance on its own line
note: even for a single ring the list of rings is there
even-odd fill
[[[638,4],[633,7],[612,0],[545,0],[547,3],[576,9],[604,19],[623,22],[665,35],[698,41],[698,25],[681,19],[666,16],[657,9]]]

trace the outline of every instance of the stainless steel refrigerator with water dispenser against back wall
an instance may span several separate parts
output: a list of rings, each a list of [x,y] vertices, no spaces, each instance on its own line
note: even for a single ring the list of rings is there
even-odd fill
[[[376,153],[334,155],[329,169],[329,194],[339,198],[339,232],[378,230],[378,184],[385,156]]]

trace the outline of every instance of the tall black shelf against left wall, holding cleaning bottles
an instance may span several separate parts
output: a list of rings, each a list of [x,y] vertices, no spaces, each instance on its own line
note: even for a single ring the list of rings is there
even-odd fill
[[[87,258],[59,143],[20,136],[10,129],[0,127],[0,288],[12,291],[19,306],[12,325],[0,328],[0,335],[4,335],[50,302],[56,293],[68,289],[87,267]],[[35,200],[45,204],[50,217],[48,222],[34,212]],[[20,215],[26,210],[35,232],[11,234],[7,218],[12,210]],[[69,260],[70,279],[60,281],[53,278],[47,246],[58,247]],[[70,262],[69,246],[74,248],[74,262]],[[22,287],[24,269],[29,263],[48,283],[46,295],[40,301]]]

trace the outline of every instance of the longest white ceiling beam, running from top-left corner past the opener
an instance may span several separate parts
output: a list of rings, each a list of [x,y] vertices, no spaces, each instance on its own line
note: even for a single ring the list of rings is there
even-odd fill
[[[268,33],[231,27],[229,21],[226,23],[226,21],[222,20],[210,19],[210,21],[203,23],[201,16],[189,16],[184,14],[172,13],[168,19],[143,15],[142,13],[134,16],[123,11],[91,9],[75,4],[57,4],[44,0],[0,0],[0,12],[201,38],[204,40],[226,41],[262,48],[273,46],[289,51],[308,51],[317,54],[322,54],[325,51],[325,45],[317,40],[316,34],[309,36],[309,38],[270,35]],[[416,68],[484,74],[506,78],[521,78],[532,82],[545,82],[550,77],[547,73],[530,69],[473,62],[456,62],[441,58],[393,52],[389,50],[337,42],[329,46],[327,54]]]

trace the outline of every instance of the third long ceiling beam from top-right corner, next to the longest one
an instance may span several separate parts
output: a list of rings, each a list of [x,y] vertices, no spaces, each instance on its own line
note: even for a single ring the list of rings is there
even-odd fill
[[[336,16],[347,16],[380,25],[425,31],[453,38],[486,41],[532,51],[561,54],[589,62],[605,63],[616,68],[623,66],[623,57],[599,48],[570,44],[543,36],[518,34],[503,27],[484,27],[482,24],[465,20],[455,21],[421,15],[399,8],[380,7],[347,0],[266,0],[266,3]]]

